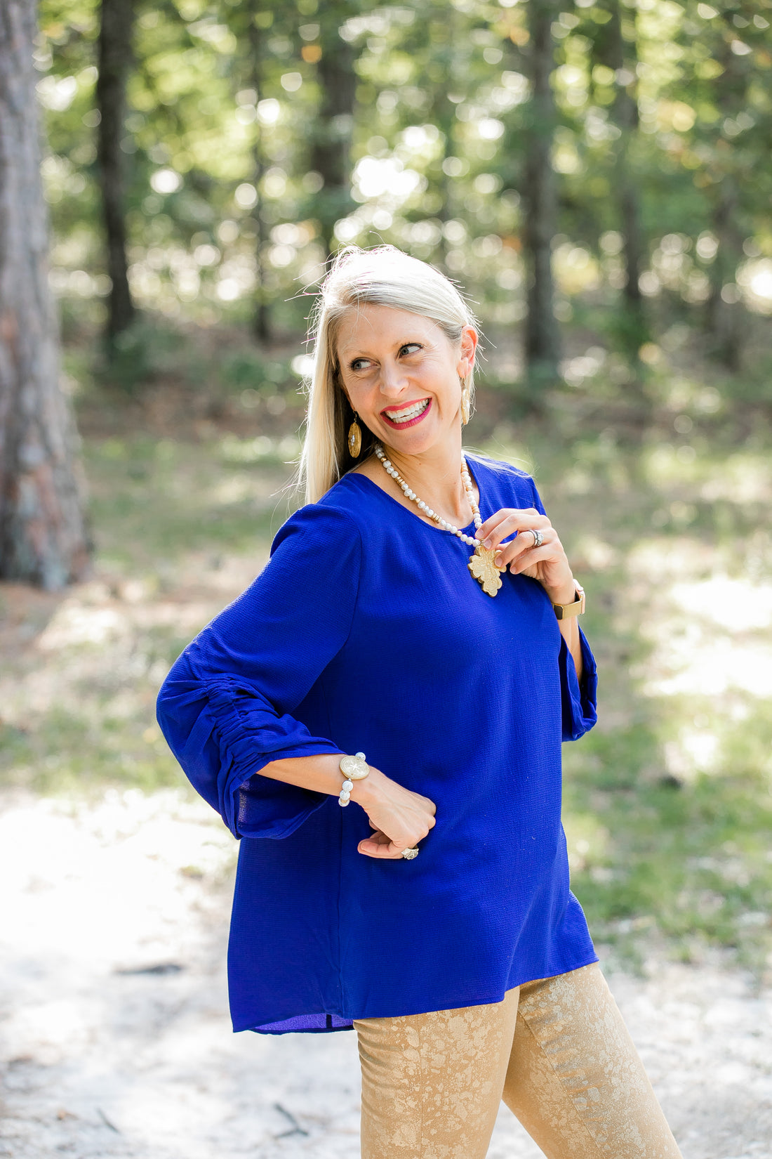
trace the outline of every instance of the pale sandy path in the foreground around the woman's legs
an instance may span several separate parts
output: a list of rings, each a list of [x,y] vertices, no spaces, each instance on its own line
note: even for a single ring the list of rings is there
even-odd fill
[[[3,803],[0,1154],[356,1159],[354,1035],[230,1032],[214,814],[172,792]],[[685,1159],[771,1159],[772,993],[719,965],[610,981]],[[490,1159],[539,1154],[502,1108]]]

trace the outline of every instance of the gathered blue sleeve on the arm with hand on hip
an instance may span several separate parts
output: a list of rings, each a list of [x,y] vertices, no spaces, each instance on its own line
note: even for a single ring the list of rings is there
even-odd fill
[[[161,687],[161,730],[235,837],[287,837],[328,799],[260,770],[341,751],[293,712],[346,642],[361,554],[346,512],[301,508],[263,571],[188,646]]]

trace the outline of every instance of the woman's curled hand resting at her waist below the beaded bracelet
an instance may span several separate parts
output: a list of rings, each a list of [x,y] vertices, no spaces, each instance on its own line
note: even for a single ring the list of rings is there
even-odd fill
[[[358,845],[368,858],[402,858],[434,829],[436,807],[420,793],[397,785],[370,765],[369,775],[354,781],[351,800],[362,807],[374,832]]]

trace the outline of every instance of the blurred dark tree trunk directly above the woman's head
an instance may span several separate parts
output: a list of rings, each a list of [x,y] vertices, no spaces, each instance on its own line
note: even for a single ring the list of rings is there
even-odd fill
[[[351,138],[354,121],[354,50],[338,29],[359,5],[352,2],[322,6],[319,48],[322,57],[317,78],[322,94],[311,148],[311,167],[321,174],[324,185],[317,195],[316,216],[322,227],[322,242],[328,254],[336,249],[334,224],[352,207]]]

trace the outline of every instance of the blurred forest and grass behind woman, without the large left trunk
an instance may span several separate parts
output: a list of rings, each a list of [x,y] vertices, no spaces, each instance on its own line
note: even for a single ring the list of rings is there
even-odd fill
[[[155,692],[299,502],[328,255],[392,242],[469,293],[468,445],[535,472],[588,590],[601,721],[566,830],[596,936],[769,981],[772,3],[38,16],[94,570],[0,588],[3,782],[181,783]]]

